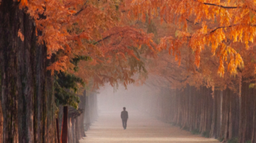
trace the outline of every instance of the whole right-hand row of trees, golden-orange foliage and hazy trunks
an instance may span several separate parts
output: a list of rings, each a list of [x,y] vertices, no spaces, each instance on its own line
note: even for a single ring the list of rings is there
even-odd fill
[[[169,52],[149,62],[149,72],[168,84],[157,96],[141,97],[149,100],[141,109],[223,142],[255,142],[255,3],[134,3],[133,12],[148,14],[148,32]]]

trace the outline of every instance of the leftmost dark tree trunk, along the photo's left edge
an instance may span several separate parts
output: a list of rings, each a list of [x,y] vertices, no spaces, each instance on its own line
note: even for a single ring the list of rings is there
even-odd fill
[[[1,1],[0,46],[1,46],[1,89],[4,115],[3,142],[18,142],[17,120],[17,32],[19,9],[13,1]],[[10,10],[12,9],[12,11]]]

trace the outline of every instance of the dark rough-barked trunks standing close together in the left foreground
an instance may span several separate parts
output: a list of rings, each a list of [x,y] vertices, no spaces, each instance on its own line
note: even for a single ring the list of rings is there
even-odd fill
[[[3,141],[54,142],[53,90],[45,80],[52,81],[46,74],[46,47],[37,45],[34,22],[17,2],[1,1],[0,20]],[[17,35],[19,29],[24,41]]]

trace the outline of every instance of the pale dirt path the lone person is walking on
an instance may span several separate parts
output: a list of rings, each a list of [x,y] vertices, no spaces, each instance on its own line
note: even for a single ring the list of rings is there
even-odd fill
[[[177,142],[195,143],[219,142],[216,139],[207,139],[193,135],[178,128],[165,124],[154,118],[140,114],[136,111],[128,111],[129,119],[127,129],[123,129],[119,112],[103,112],[99,119],[92,124],[87,137],[80,143],[120,143],[120,142]]]

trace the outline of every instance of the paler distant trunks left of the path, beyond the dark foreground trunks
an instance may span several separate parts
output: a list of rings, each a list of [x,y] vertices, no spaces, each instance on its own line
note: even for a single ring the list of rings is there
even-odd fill
[[[60,112],[58,114],[58,126],[57,128],[61,132],[58,133],[58,138],[61,139],[61,142],[69,142],[69,143],[79,143],[79,139],[83,139],[86,137],[84,133],[89,129],[89,126],[93,121],[97,119],[97,95],[96,93],[88,93],[86,96],[86,92],[80,97],[80,103],[78,109],[69,106],[68,116],[66,124],[63,122],[64,112]],[[60,108],[64,109],[64,107]],[[57,122],[56,122],[57,123]],[[66,128],[66,132],[63,130]],[[65,141],[63,141],[63,139]],[[60,143],[59,141],[56,143]]]

